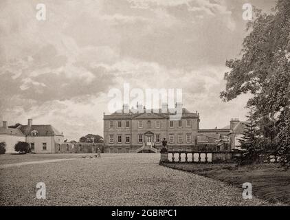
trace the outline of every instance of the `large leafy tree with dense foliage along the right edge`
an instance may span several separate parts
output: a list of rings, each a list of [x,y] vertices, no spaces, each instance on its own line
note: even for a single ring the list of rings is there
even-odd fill
[[[225,73],[221,98],[229,101],[251,93],[247,105],[256,109],[261,141],[285,154],[290,146],[290,1],[278,0],[270,14],[254,12],[241,58],[226,62],[231,70]]]

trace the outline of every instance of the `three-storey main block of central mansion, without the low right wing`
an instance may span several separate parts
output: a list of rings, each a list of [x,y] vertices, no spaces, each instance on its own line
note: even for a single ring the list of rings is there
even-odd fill
[[[126,107],[125,107],[126,108]],[[125,113],[127,112],[127,113]],[[164,137],[168,148],[190,150],[197,145],[199,113],[182,108],[180,120],[170,120],[170,109],[122,111],[104,115],[104,152],[157,152]]]

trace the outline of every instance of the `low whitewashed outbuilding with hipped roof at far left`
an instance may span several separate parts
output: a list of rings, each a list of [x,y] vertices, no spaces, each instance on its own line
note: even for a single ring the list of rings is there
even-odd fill
[[[0,142],[5,142],[6,153],[15,153],[14,145],[19,141],[29,143],[33,153],[56,153],[64,136],[50,124],[32,124],[32,119],[16,129],[8,128],[7,122],[3,122]]]

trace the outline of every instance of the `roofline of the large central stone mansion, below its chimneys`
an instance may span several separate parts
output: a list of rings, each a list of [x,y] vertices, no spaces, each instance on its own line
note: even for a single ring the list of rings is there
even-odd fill
[[[136,111],[136,110],[135,110]],[[145,112],[146,111],[146,112]],[[175,115],[176,109],[168,109],[167,112],[162,112],[162,109],[144,109],[144,112],[133,112],[132,109],[129,113],[123,113],[122,111],[115,111],[111,115],[104,115],[106,119],[146,119],[146,118],[169,118],[170,115]],[[185,108],[182,108],[182,118],[199,118],[199,113],[192,113]]]

